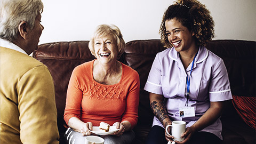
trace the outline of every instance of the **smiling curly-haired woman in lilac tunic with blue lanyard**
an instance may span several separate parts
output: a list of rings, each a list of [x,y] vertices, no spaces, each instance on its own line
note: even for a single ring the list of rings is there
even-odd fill
[[[220,116],[232,97],[223,60],[205,47],[213,27],[198,1],[177,1],[164,13],[159,34],[167,49],[156,55],[144,88],[155,114],[146,143],[173,142],[165,132],[172,121],[186,122],[184,140],[175,143],[221,143]]]

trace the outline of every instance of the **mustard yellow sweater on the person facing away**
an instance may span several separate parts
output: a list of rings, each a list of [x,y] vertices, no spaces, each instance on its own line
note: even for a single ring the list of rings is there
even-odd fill
[[[50,71],[4,47],[0,64],[0,143],[59,143]]]

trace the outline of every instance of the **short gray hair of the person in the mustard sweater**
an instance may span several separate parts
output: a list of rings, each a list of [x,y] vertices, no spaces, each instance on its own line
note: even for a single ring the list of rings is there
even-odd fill
[[[12,42],[17,39],[20,22],[26,21],[34,28],[36,16],[43,12],[41,0],[1,0],[0,38]]]

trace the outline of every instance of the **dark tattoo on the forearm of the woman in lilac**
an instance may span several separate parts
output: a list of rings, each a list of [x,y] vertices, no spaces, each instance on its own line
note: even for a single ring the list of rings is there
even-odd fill
[[[168,118],[167,111],[165,109],[163,102],[153,101],[150,103],[150,107],[153,110],[155,116],[159,119],[159,121],[163,124],[165,118]]]

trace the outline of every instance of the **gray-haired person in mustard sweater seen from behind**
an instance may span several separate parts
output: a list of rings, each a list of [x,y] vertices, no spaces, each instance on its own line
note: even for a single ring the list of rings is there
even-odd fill
[[[44,29],[43,3],[0,2],[0,143],[59,143],[53,79],[28,55]]]

